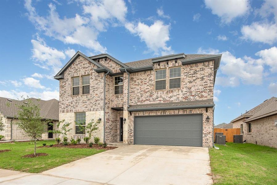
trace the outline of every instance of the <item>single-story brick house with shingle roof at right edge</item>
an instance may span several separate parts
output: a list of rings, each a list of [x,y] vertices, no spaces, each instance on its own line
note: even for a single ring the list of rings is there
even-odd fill
[[[241,129],[246,142],[277,148],[276,97],[264,101],[231,122],[233,128]]]

